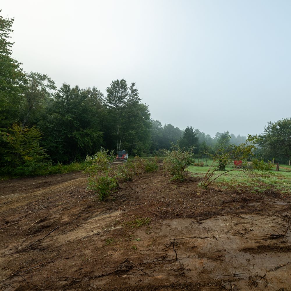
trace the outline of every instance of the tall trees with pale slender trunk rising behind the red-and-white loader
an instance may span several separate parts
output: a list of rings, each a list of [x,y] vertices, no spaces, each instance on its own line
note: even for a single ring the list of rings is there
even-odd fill
[[[135,83],[128,88],[125,79],[115,80],[106,91],[107,140],[115,144],[116,151],[123,148],[129,153],[148,151],[150,111],[141,103]]]

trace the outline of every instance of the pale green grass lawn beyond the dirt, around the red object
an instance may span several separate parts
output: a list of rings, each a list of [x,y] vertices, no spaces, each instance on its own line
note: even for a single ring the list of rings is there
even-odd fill
[[[209,165],[212,161],[209,162]],[[274,166],[276,168],[276,166]],[[282,168],[281,168],[282,167]],[[290,168],[290,170],[289,170]],[[203,178],[208,171],[209,166],[189,166],[188,171],[193,173],[193,176]],[[226,171],[233,168],[226,167]],[[222,172],[217,172],[217,175]],[[258,173],[258,171],[256,171]],[[257,178],[251,178],[241,171],[232,171],[221,175],[215,180],[212,185],[222,189],[229,188],[244,188],[248,187],[253,191],[265,191],[268,189],[278,190],[283,193],[291,193],[291,167],[289,165],[280,165],[280,171],[271,170],[271,175],[262,175]],[[211,184],[210,184],[211,185]]]

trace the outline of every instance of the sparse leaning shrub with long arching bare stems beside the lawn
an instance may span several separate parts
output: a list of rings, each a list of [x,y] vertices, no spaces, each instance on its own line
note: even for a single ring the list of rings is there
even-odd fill
[[[270,165],[265,164],[263,161],[258,162],[257,159],[253,159],[253,166],[249,167],[247,163],[244,163],[241,168],[231,168],[226,170],[225,167],[228,164],[232,164],[234,160],[247,160],[254,158],[254,151],[256,149],[256,144],[258,143],[258,136],[249,135],[246,141],[240,145],[229,145],[228,148],[225,148],[224,144],[212,155],[213,162],[205,174],[201,186],[207,188],[209,184],[214,182],[221,175],[229,173],[231,171],[242,171],[245,174],[255,176],[253,172],[254,169],[257,169],[261,172],[270,172]],[[222,171],[220,173],[219,171]]]

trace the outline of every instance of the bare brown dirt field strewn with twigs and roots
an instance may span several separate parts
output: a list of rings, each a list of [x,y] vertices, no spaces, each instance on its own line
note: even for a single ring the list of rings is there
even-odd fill
[[[291,196],[198,182],[0,182],[0,290],[291,290]]]

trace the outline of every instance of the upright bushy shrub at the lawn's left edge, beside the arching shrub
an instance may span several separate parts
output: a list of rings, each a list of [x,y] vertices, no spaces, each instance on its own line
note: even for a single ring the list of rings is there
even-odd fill
[[[164,171],[172,175],[171,180],[185,180],[185,169],[192,163],[192,151],[192,148],[188,151],[183,151],[179,145],[172,145],[170,150],[165,151]]]

